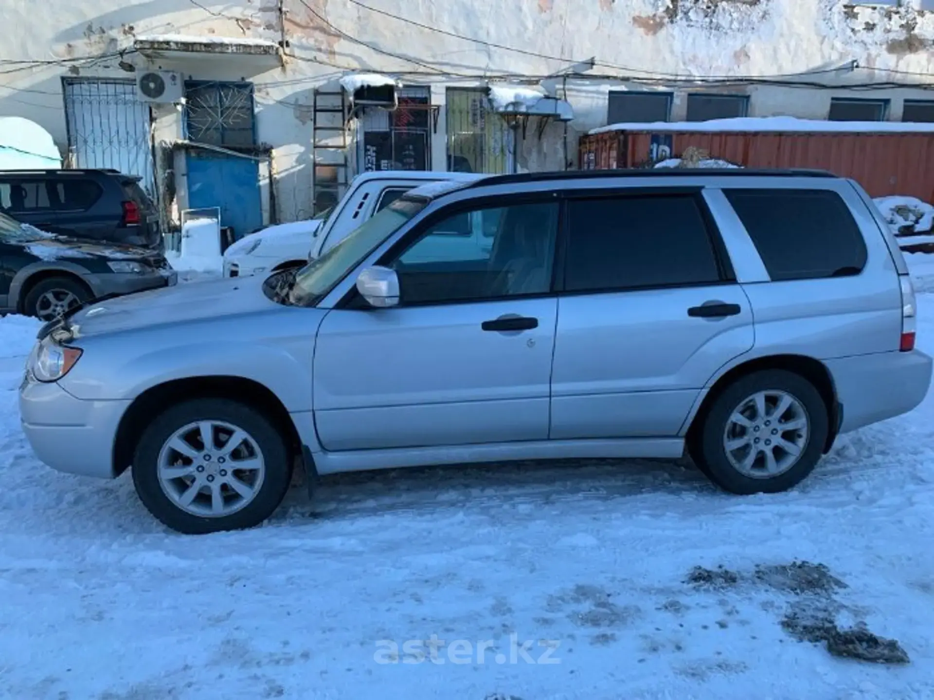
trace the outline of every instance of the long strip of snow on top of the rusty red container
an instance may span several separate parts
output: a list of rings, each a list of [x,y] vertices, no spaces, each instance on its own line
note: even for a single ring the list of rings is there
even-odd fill
[[[797,117],[737,117],[709,121],[620,122],[591,129],[605,132],[828,132],[828,133],[934,133],[934,123],[909,121],[828,121]]]

